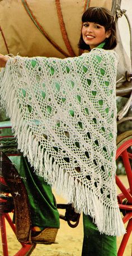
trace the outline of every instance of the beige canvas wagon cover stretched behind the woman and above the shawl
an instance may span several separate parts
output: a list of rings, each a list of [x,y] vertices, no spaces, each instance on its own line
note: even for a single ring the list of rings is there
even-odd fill
[[[89,6],[111,10],[111,5],[112,0],[2,0],[0,52],[29,57],[77,56],[83,11]]]

